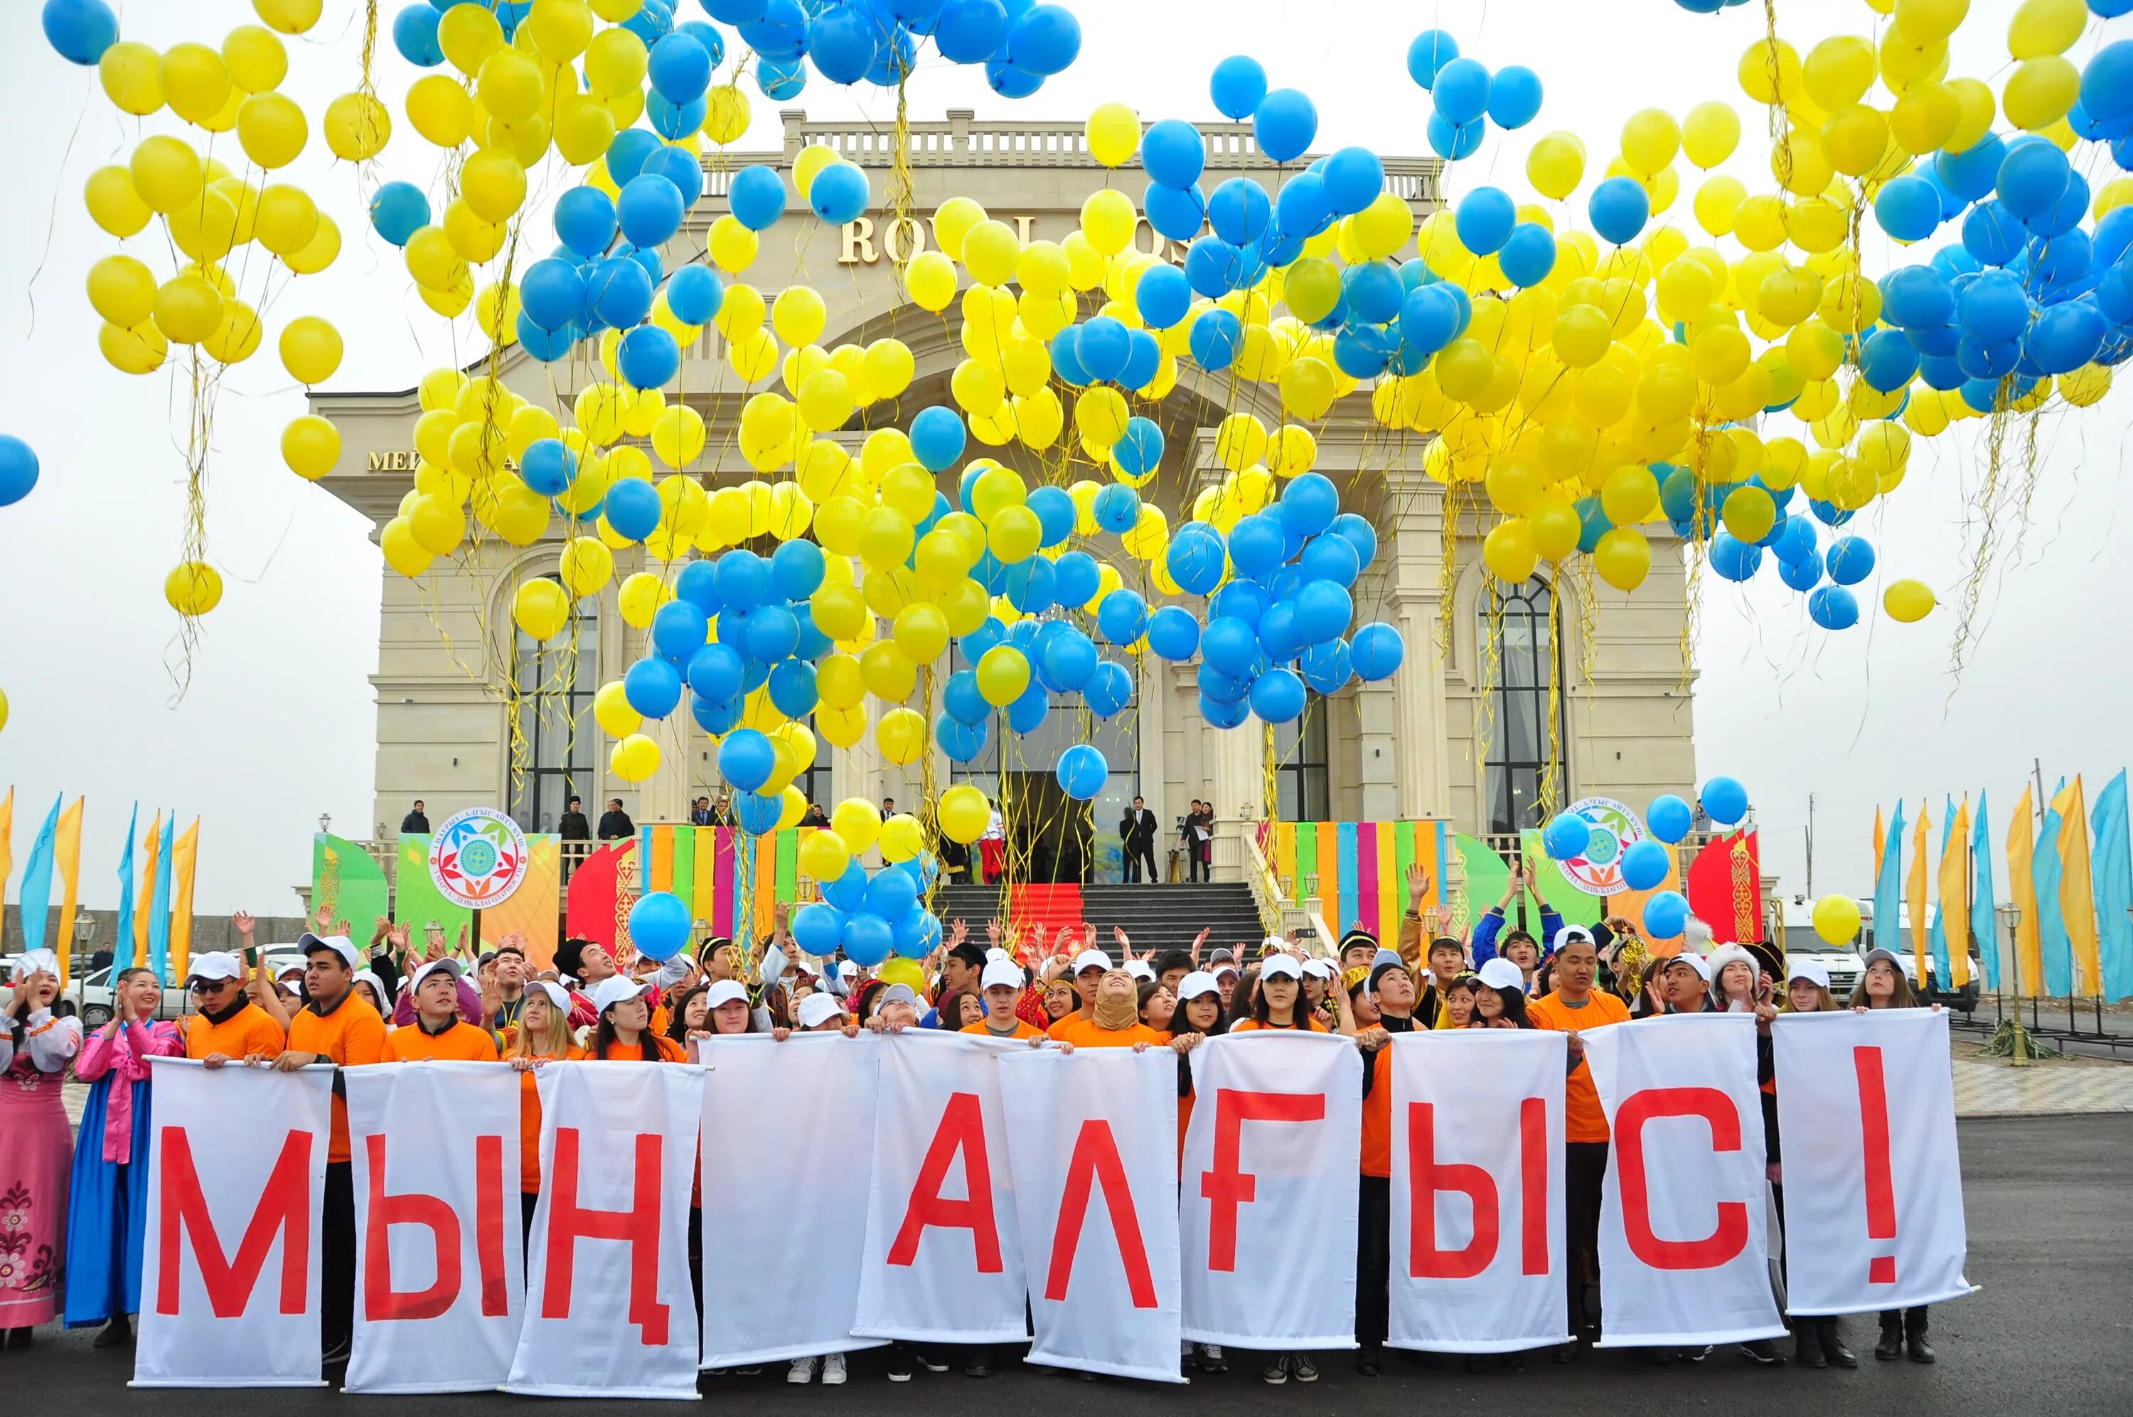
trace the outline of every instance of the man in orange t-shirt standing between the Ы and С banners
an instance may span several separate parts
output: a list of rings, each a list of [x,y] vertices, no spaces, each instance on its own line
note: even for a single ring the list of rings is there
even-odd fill
[[[1555,1362],[1578,1355],[1591,1340],[1585,1321],[1585,1276],[1600,1274],[1600,1182],[1606,1178],[1608,1129],[1600,1090],[1585,1067],[1585,1033],[1630,1022],[1630,1005],[1604,988],[1593,988],[1600,952],[1591,935],[1566,933],[1555,950],[1555,990],[1525,1005],[1536,1029],[1570,1035],[1570,1078],[1563,1093],[1563,1259],[1572,1342],[1555,1351]]]

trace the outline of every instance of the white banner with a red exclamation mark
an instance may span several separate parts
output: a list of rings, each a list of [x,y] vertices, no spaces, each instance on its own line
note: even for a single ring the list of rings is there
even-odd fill
[[[1783,1014],[1773,1039],[1792,1312],[1971,1293],[1947,1014]]]

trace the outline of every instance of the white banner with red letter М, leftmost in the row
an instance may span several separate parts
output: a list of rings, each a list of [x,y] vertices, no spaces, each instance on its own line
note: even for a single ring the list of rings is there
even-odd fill
[[[134,1387],[316,1387],[333,1069],[151,1065]]]

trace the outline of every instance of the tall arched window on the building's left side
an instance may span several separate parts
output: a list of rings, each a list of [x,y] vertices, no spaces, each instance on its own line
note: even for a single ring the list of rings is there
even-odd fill
[[[589,817],[597,817],[599,598],[580,600],[576,625],[552,640],[514,632],[512,683],[518,685],[518,732],[527,738],[523,764],[514,760],[510,768],[512,819],[527,832],[552,832],[574,796],[584,798]]]

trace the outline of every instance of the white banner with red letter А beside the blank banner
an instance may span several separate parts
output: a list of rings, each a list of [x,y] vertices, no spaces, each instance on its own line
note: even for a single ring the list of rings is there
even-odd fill
[[[1024,1342],[1022,1231],[994,1058],[1028,1044],[881,1039],[860,1317],[868,1338]]]

